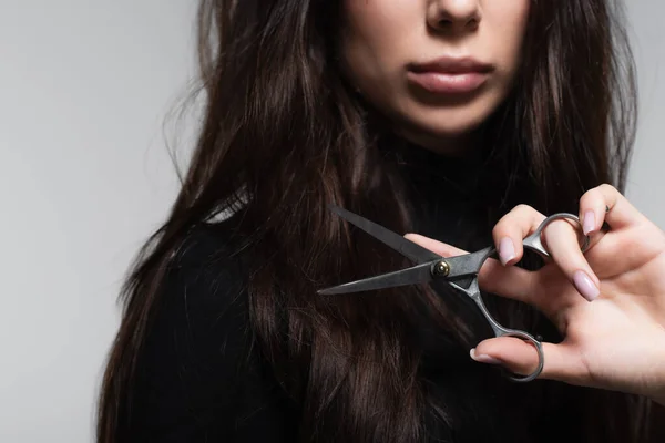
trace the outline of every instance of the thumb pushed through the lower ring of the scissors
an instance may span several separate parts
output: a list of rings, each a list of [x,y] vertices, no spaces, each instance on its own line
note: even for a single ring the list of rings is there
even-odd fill
[[[586,369],[574,348],[566,342],[542,343],[544,365],[539,379],[579,382]],[[497,364],[520,375],[529,375],[539,364],[539,354],[532,343],[514,337],[500,337],[480,342],[470,351],[480,363]]]

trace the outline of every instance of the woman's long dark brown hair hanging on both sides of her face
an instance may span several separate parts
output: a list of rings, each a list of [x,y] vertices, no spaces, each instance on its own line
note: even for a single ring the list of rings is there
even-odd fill
[[[315,295],[396,266],[392,258],[378,260],[374,246],[364,256],[362,238],[328,204],[397,231],[411,226],[403,186],[381,152],[383,126],[336,62],[337,3],[201,1],[205,119],[177,200],[122,293],[123,321],[99,403],[100,443],[125,436],[134,369],[170,257],[192,226],[237,207],[238,231],[258,258],[247,270],[248,328],[301,410],[304,441],[418,441],[428,405],[447,414],[417,377],[421,354],[411,346],[407,301],[418,297],[468,340],[440,299],[424,289],[383,293],[380,303]],[[482,128],[493,172],[488,229],[516,204],[575,213],[591,187],[623,189],[635,85],[622,17],[611,0],[532,2],[514,93]],[[538,318],[503,305],[524,323]],[[580,389],[581,401],[594,395]],[[640,399],[607,395],[590,414],[589,441],[638,441],[647,409]]]

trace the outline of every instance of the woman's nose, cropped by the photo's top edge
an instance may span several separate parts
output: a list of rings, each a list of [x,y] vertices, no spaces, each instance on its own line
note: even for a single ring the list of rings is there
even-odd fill
[[[428,24],[438,31],[473,31],[480,19],[480,0],[432,0],[428,8]]]

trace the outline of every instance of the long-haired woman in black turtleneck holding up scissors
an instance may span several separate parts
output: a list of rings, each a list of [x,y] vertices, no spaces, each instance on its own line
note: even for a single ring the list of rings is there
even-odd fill
[[[663,441],[665,235],[621,195],[618,12],[203,1],[205,120],[125,287],[98,440]],[[535,353],[449,288],[317,295],[405,266],[328,204],[444,256],[497,245],[481,287],[502,323],[543,337],[541,377],[509,381]],[[520,241],[556,212],[592,247],[554,224],[540,268]]]

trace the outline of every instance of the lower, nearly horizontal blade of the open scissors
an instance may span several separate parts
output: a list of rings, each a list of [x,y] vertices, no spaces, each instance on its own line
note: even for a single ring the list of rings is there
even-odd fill
[[[362,280],[356,280],[348,284],[334,286],[331,288],[321,289],[318,291],[318,293],[323,296],[329,296],[336,293],[362,292],[375,289],[422,284],[431,280],[431,264],[427,262],[412,268],[396,270],[393,272],[364,278]]]

